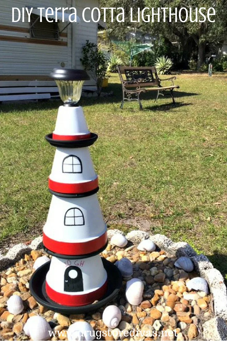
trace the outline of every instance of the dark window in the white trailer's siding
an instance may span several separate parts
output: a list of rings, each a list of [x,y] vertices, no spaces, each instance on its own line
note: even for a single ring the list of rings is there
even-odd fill
[[[40,23],[40,16],[33,13],[30,18],[30,38],[59,40],[58,23],[48,23],[45,17]]]

